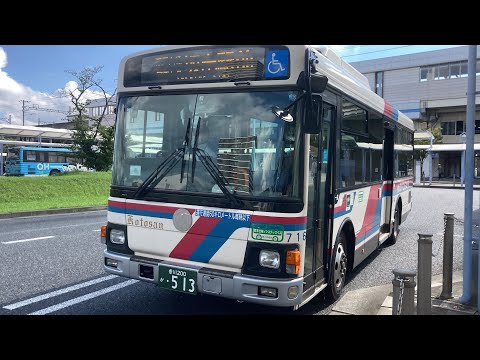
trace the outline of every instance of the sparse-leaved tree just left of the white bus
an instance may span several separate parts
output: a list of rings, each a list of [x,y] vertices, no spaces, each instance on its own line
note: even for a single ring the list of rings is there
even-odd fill
[[[103,125],[110,101],[115,96],[116,90],[109,95],[98,79],[98,74],[103,66],[88,67],[81,71],[67,70],[77,82],[76,89],[65,90],[74,107],[74,115],[70,118],[73,123],[73,144],[70,147],[82,159],[87,167],[97,171],[110,170],[113,162],[114,130]],[[87,106],[90,100],[86,99],[89,92],[101,93],[103,111],[98,116],[89,116]]]

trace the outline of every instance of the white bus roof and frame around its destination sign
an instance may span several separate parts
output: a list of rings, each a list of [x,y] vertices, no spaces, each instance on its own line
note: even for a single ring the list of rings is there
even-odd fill
[[[212,47],[213,45],[173,45],[164,46],[160,48],[141,51],[127,57],[124,57],[120,63],[118,74],[118,93],[119,95],[125,92],[149,92],[152,91],[147,86],[127,88],[124,86],[125,64],[127,60],[147,55],[151,53],[163,53],[173,50],[189,49],[189,48],[204,48]],[[339,58],[331,49],[327,47],[314,48],[309,45],[286,45],[290,50],[290,77],[288,79],[280,80],[259,80],[249,81],[251,88],[258,87],[277,87],[290,86],[296,87],[297,80],[301,72],[305,68],[305,50],[311,48],[316,55],[316,70],[318,73],[327,76],[328,84],[334,89],[337,89],[346,95],[357,99],[359,102],[369,106],[375,111],[384,114],[395,122],[405,126],[410,130],[414,130],[413,121],[406,115],[393,108],[391,104],[378,96],[370,89],[368,79],[353,68],[350,64]],[[175,84],[162,85],[162,91],[175,90],[202,90],[202,89],[238,89],[234,82],[216,82],[216,83],[189,83],[189,84]]]

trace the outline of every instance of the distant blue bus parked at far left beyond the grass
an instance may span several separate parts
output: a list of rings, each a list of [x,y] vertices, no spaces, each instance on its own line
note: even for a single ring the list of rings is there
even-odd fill
[[[18,146],[8,150],[5,172],[8,176],[58,175],[78,163],[70,149]]]

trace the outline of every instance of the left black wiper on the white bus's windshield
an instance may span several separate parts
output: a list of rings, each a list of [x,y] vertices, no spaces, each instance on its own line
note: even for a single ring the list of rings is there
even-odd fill
[[[137,191],[135,191],[135,194],[133,194],[135,199],[140,199],[149,193],[160,181],[163,180],[163,178],[165,178],[165,176],[167,176],[167,174],[178,164],[178,162],[183,159],[182,173],[180,175],[180,182],[182,182],[185,168],[185,151],[188,145],[188,135],[190,134],[190,123],[191,118],[188,118],[188,125],[185,132],[183,147],[175,150],[164,161],[162,161],[160,165],[157,166],[157,168],[150,174],[145,182],[137,189]]]

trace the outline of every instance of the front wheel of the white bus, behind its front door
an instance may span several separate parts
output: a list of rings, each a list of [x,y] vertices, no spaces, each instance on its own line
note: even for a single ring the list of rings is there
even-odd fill
[[[329,281],[326,289],[326,297],[330,301],[336,301],[342,294],[347,277],[347,235],[344,230],[338,235],[337,244],[335,245],[331,261],[332,266],[330,267],[328,275]]]

